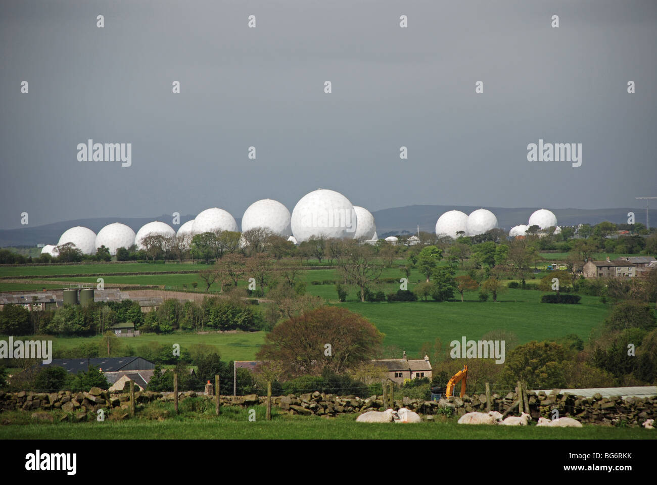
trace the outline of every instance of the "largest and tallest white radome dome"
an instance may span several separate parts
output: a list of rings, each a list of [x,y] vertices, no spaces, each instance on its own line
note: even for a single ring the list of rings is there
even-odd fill
[[[296,203],[290,226],[299,243],[319,235],[328,239],[353,239],[357,220],[348,198],[336,191],[317,189]]]

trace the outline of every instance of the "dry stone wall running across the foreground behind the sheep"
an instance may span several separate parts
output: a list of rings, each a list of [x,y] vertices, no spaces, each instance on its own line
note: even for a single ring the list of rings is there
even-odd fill
[[[201,397],[214,400],[214,396],[196,394],[196,392],[179,392],[179,400],[190,397]],[[173,392],[136,392],[137,404],[145,404],[156,400],[173,401]],[[505,413],[517,401],[517,396],[509,392],[505,396],[499,394],[491,395],[491,411]],[[221,405],[238,405],[249,407],[252,405],[265,404],[265,397],[250,394],[248,396],[221,396]],[[574,417],[581,423],[592,423],[597,425],[618,425],[624,422],[628,426],[642,425],[646,419],[657,417],[657,396],[649,398],[627,398],[623,400],[620,396],[603,398],[596,394],[592,398],[575,396],[573,394],[535,394],[528,392],[528,403],[532,419],[537,421],[541,416],[552,417],[553,409],[557,409],[559,416]],[[344,413],[362,413],[365,411],[384,410],[383,396],[370,396],[359,398],[357,396],[334,396],[313,392],[295,396],[274,396],[272,404],[279,407],[284,413],[293,415],[317,415],[332,417]],[[407,407],[415,411],[426,420],[432,419],[436,414],[451,414],[461,416],[471,411],[486,411],[486,395],[473,396],[451,396],[449,399],[436,401],[424,401],[417,399],[401,398],[394,400],[395,409]],[[61,409],[76,415],[95,412],[98,409],[119,408],[129,409],[129,394],[110,394],[100,388],[91,388],[89,392],[60,391],[51,393],[39,392],[0,392],[0,411],[22,409],[24,411],[49,411]],[[451,408],[451,411],[448,409]],[[518,409],[511,414],[517,415]]]

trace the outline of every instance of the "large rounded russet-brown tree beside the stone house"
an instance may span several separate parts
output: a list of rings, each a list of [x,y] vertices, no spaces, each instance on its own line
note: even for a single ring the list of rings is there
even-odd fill
[[[383,335],[361,315],[325,306],[274,327],[257,357],[280,361],[293,376],[321,375],[324,369],[340,374],[373,359],[382,340]]]

